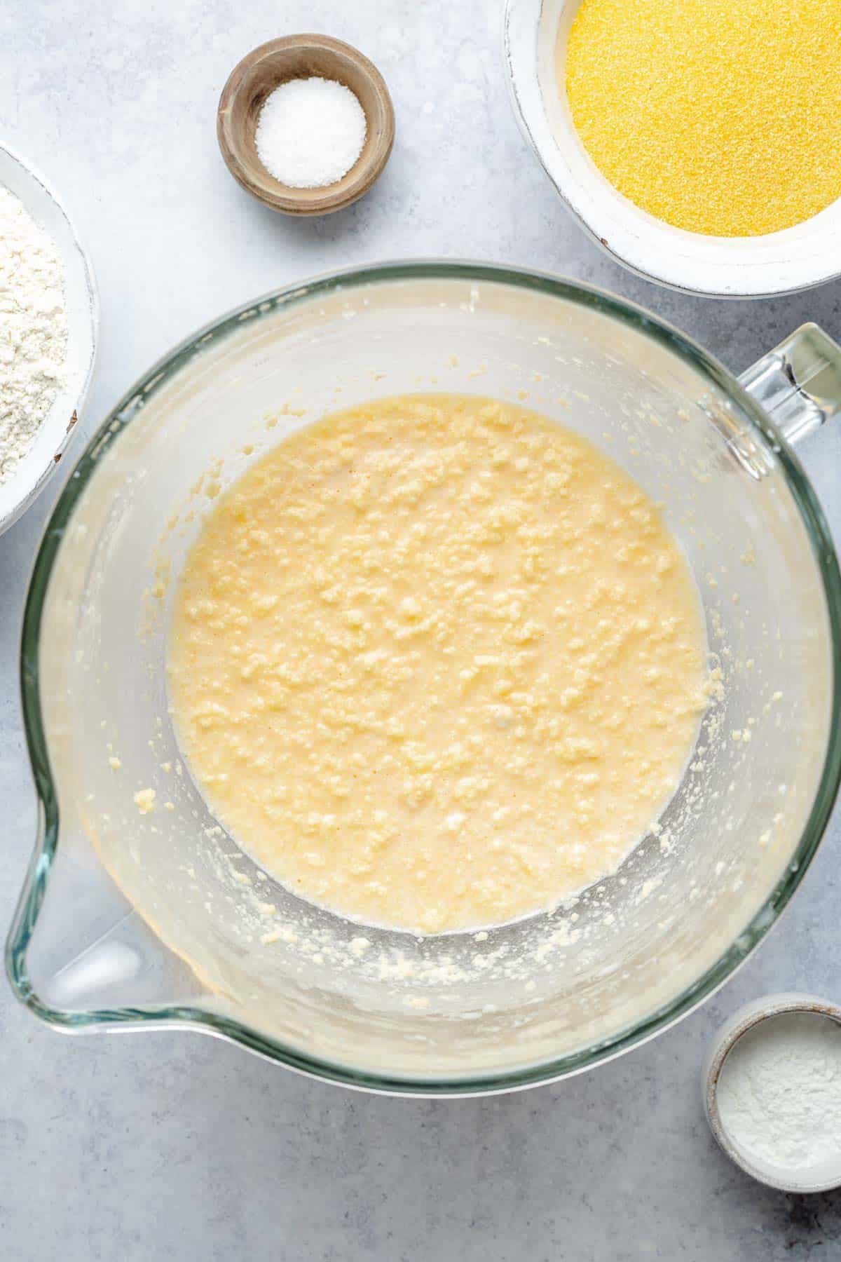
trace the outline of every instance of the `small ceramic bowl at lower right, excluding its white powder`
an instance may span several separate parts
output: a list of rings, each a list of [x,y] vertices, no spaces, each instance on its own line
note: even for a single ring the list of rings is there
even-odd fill
[[[772,1165],[741,1148],[725,1129],[719,1112],[719,1082],[729,1054],[739,1040],[764,1021],[783,1013],[812,1012],[841,1025],[841,1007],[815,994],[786,992],[765,994],[739,1008],[719,1031],[702,1071],[704,1108],[719,1146],[741,1170],[778,1191],[816,1193],[841,1186],[841,1156],[813,1166],[802,1177],[786,1167]]]

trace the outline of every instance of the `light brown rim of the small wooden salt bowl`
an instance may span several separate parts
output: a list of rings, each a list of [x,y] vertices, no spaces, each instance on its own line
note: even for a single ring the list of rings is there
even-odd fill
[[[369,81],[382,115],[381,136],[377,145],[372,150],[371,156],[366,162],[357,162],[357,164],[342,177],[342,180],[345,180],[352,173],[354,173],[353,178],[349,179],[344,187],[337,187],[337,184],[328,186],[324,189],[323,196],[315,198],[305,196],[311,194],[313,189],[296,189],[290,186],[281,184],[280,180],[275,179],[275,177],[267,170],[265,172],[265,180],[255,179],[252,173],[240,160],[240,141],[231,125],[233,102],[242,91],[242,85],[246,77],[255,69],[255,67],[260,66],[261,62],[274,57],[276,53],[294,52],[296,49],[323,49],[328,53],[333,53],[339,59],[352,62]],[[290,76],[290,78],[294,77],[295,76]],[[351,86],[344,78],[339,78],[338,76],[337,81],[344,83],[345,87]],[[286,80],[279,80],[279,86],[282,82],[286,82]],[[351,88],[351,91],[353,91],[353,88]],[[358,97],[358,93],[354,95]],[[359,101],[359,103],[364,109],[364,103],[362,101]],[[368,126],[371,126],[368,111],[366,111],[366,117]],[[269,206],[271,209],[280,211],[285,215],[330,215],[332,212],[344,209],[345,206],[351,206],[356,202],[359,197],[368,192],[374,180],[381,175],[386,163],[388,162],[395,141],[395,107],[382,74],[373,62],[369,61],[364,53],[361,53],[358,48],[354,48],[352,44],[347,44],[342,39],[335,39],[333,35],[322,35],[316,33],[281,35],[277,39],[266,40],[266,43],[253,48],[240,62],[237,62],[231,71],[219,97],[219,106],[217,110],[217,140],[219,143],[224,163],[233,178],[242,186],[242,188],[246,189],[246,192],[251,193],[252,197],[256,197],[257,201],[262,202],[264,206]],[[340,184],[342,182],[337,183]]]

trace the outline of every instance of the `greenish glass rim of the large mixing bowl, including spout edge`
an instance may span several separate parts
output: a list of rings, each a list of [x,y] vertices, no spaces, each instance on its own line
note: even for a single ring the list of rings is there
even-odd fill
[[[642,1020],[617,1032],[613,1037],[566,1056],[530,1064],[503,1074],[475,1078],[401,1078],[388,1071],[369,1074],[352,1066],[322,1060],[286,1046],[266,1035],[218,1013],[199,1007],[166,1006],[159,1008],[110,1008],[91,1012],[67,1012],[45,1005],[32,987],[26,973],[26,945],[33,934],[44,899],[49,871],[59,844],[59,814],[55,787],[49,767],[49,753],[44,734],[40,704],[39,659],[40,623],[44,598],[58,549],[72,520],[77,501],[98,467],[98,459],[120,442],[131,418],[137,415],[137,401],[148,401],[168,385],[178,372],[207,347],[216,347],[224,337],[240,331],[243,322],[261,319],[279,308],[318,303],[327,295],[342,290],[358,290],[392,283],[421,280],[454,280],[469,284],[509,286],[514,290],[537,293],[575,303],[588,310],[601,313],[637,333],[652,338],[672,355],[688,363],[711,385],[725,391],[740,409],[745,420],[754,425],[763,444],[773,433],[768,416],[739,385],[726,369],[711,358],[700,346],[677,329],[649,314],[643,308],[627,303],[604,290],[579,281],[522,271],[514,268],[490,266],[483,262],[415,260],[382,264],[359,270],[348,270],[310,281],[290,285],[270,293],[256,302],[236,308],[221,319],[200,328],[182,342],[168,356],[159,360],[136,385],[117,403],[96,432],[82,454],[76,471],[66,483],[53,514],[47,524],[40,544],[24,610],[23,641],[20,652],[20,684],[23,717],[29,757],[38,793],[39,830],[35,851],[29,864],[25,885],[20,895],[11,930],[6,941],[6,970],[18,998],[43,1021],[62,1030],[82,1031],[96,1027],[137,1029],[183,1027],[198,1029],[221,1035],[251,1049],[290,1069],[311,1074],[329,1082],[373,1092],[412,1095],[473,1095],[509,1092],[538,1083],[552,1082],[591,1069],[603,1061],[628,1051],[687,1016],[714,991],[716,991],[762,941],[770,926],[798,887],[826,828],[841,780],[841,695],[838,690],[838,661],[841,660],[841,574],[832,539],[821,506],[806,478],[803,469],[782,437],[775,435],[777,459],[786,476],[789,491],[798,506],[815,562],[821,573],[827,602],[827,616],[832,636],[832,680],[827,687],[832,698],[830,736],[818,790],[803,834],[784,876],[765,902],[757,909],[753,919],[735,938],[728,950],[706,969],[690,987],[670,1003],[647,1013]],[[129,419],[126,419],[126,415]]]

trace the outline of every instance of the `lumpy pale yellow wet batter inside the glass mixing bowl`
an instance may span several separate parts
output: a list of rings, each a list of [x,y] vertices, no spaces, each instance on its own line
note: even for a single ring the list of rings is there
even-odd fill
[[[653,502],[522,408],[414,395],[299,432],[223,495],[170,699],[217,817],[286,886],[436,931],[617,867],[705,707]]]

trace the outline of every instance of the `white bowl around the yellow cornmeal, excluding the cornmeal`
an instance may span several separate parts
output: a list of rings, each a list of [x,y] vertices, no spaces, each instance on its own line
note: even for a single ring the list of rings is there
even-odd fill
[[[717,298],[792,293],[841,275],[841,198],[782,232],[714,237],[654,218],[605,179],[579,139],[566,93],[559,91],[566,37],[579,5],[580,0],[507,0],[504,53],[523,134],[595,241],[649,280]],[[780,160],[780,179],[786,169]]]

